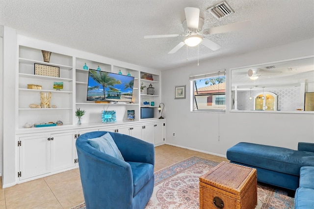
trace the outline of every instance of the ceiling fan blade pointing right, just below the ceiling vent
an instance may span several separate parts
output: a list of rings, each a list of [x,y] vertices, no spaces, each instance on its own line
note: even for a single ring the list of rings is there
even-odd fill
[[[211,34],[216,34],[216,33],[225,33],[225,32],[230,32],[230,31],[235,31],[235,30],[241,30],[246,27],[251,26],[251,21],[246,20],[242,22],[237,22],[237,23],[231,23],[227,24],[224,26],[218,26],[218,27],[212,27],[208,29],[203,30],[204,35],[211,35]]]

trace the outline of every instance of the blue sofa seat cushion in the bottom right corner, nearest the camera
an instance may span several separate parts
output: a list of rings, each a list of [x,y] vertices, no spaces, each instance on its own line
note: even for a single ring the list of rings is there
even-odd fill
[[[295,209],[313,209],[314,208],[314,189],[299,187],[294,195]]]

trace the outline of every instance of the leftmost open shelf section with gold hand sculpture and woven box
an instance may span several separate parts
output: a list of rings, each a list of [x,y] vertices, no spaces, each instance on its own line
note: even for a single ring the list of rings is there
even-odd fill
[[[73,57],[19,45],[18,129],[26,123],[72,125]]]

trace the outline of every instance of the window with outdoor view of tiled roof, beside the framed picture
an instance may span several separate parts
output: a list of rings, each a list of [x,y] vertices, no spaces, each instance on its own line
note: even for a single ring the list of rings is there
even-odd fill
[[[225,71],[190,77],[191,111],[218,111],[226,109]]]

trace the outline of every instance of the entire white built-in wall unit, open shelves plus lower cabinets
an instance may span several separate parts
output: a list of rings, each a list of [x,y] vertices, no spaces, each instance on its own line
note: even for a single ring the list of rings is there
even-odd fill
[[[42,50],[52,52],[50,62],[43,61]],[[90,131],[113,131],[129,134],[155,146],[165,143],[165,120],[159,120],[157,108],[155,118],[141,119],[140,110],[144,102],[160,103],[160,71],[112,60],[97,54],[82,52],[52,43],[19,35],[17,38],[17,63],[15,72],[15,153],[14,169],[6,171],[11,176],[17,174],[15,182],[4,182],[4,186],[23,183],[78,167],[76,138]],[[35,64],[59,68],[58,77],[35,75]],[[111,73],[131,74],[134,77],[132,103],[102,104],[87,101],[88,70],[97,69]],[[141,78],[153,75],[154,80]],[[63,89],[53,89],[54,82],[63,82]],[[140,85],[152,84],[154,95],[147,95],[146,88],[140,93]],[[41,86],[28,89],[27,85]],[[50,93],[50,108],[31,108],[40,105],[40,93]],[[52,108],[53,105],[53,108]],[[85,110],[82,124],[77,124],[75,111]],[[116,110],[116,123],[102,123],[103,110]],[[134,110],[135,120],[128,120],[128,110]],[[25,128],[26,123],[49,123],[62,121],[63,125],[42,128]]]

